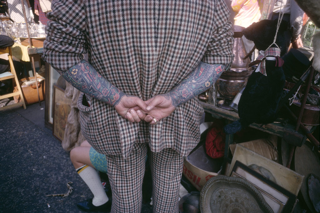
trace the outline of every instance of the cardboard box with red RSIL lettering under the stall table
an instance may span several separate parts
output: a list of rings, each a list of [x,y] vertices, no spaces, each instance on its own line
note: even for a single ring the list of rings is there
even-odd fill
[[[202,139],[191,153],[184,158],[182,174],[197,190],[201,191],[204,184],[221,170],[223,158],[213,159],[205,152],[205,131]]]

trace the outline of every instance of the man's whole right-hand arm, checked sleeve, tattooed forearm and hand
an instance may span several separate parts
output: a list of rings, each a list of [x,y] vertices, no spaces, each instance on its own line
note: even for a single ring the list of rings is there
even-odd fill
[[[198,66],[171,91],[147,100],[147,115],[145,121],[155,124],[152,117],[158,121],[169,116],[177,106],[195,98],[212,86],[221,73],[233,61],[233,31],[229,21],[230,12],[224,1],[217,1],[215,20],[217,28],[212,40]],[[205,14],[204,14],[205,15]]]

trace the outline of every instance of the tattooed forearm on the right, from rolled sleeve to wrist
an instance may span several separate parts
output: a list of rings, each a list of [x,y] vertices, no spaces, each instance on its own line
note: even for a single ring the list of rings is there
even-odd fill
[[[179,106],[209,89],[226,67],[226,65],[200,62],[192,73],[169,92],[173,106]]]

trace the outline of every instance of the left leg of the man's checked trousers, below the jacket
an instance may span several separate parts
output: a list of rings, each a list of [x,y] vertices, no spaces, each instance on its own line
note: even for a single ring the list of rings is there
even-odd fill
[[[111,212],[141,212],[146,154],[147,144],[135,144],[126,159],[119,155],[106,155],[112,189]]]

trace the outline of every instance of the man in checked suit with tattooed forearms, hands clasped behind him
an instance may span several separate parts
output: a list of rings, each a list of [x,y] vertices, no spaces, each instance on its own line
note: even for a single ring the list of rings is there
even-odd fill
[[[197,95],[233,60],[224,1],[53,0],[47,16],[43,58],[84,92],[81,131],[106,156],[111,212],[141,211],[147,154],[153,211],[177,212],[183,157],[200,138]]]

